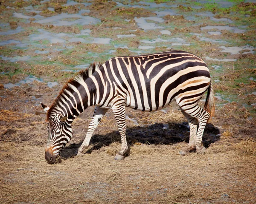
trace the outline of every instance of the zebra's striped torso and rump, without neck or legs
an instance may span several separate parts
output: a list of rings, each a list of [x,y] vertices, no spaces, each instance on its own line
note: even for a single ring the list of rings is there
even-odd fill
[[[127,95],[127,106],[157,111],[176,99],[199,100],[209,87],[209,69],[194,54],[183,51],[114,57],[103,64],[113,87]]]

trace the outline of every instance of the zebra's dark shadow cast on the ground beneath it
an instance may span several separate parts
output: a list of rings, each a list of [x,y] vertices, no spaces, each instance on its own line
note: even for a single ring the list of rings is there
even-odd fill
[[[130,147],[134,144],[142,143],[147,145],[156,144],[176,144],[179,142],[189,142],[189,125],[187,122],[183,123],[156,123],[149,126],[137,126],[127,128],[126,139],[128,142],[128,151],[125,156],[129,156]],[[212,124],[207,124],[204,130],[203,144],[204,147],[209,147],[210,144],[218,141],[220,139],[220,130]],[[89,149],[87,149],[85,154],[92,153],[93,150],[99,150],[102,147],[109,146],[113,142],[120,142],[121,148],[121,138],[118,131],[112,131],[105,135],[95,134],[90,141]],[[81,146],[82,141],[79,143],[70,144],[65,147],[61,152],[61,158],[67,159],[74,157],[77,154],[78,148]],[[116,152],[117,153],[117,152]]]

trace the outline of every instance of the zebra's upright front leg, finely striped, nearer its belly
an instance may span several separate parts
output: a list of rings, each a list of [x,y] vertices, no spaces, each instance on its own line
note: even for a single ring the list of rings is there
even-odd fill
[[[117,127],[121,135],[122,147],[121,150],[116,153],[115,160],[125,159],[124,153],[128,150],[126,142],[126,121],[125,121],[125,104],[117,104],[112,108],[116,118]]]

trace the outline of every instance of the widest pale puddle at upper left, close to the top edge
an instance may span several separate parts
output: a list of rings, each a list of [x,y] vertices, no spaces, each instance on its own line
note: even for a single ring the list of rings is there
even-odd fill
[[[83,10],[83,11],[87,11],[87,10]],[[73,21],[64,20],[64,19],[73,19]],[[47,18],[35,21],[35,23],[51,23],[53,26],[71,26],[73,24],[79,24],[81,26],[84,26],[89,24],[96,24],[99,22],[100,22],[99,19],[96,19],[90,16],[82,16],[81,14],[67,14],[67,13],[61,13],[56,16],[47,17]]]

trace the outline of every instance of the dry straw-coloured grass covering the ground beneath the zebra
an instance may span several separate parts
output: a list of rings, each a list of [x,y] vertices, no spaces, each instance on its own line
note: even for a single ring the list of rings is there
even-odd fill
[[[0,141],[0,203],[256,203],[255,139],[237,137],[241,128],[236,125],[213,139],[217,128],[207,125],[206,154],[180,156],[189,129],[176,110],[128,109],[139,125],[127,121],[130,148],[125,160],[115,161],[121,144],[111,112],[96,129],[85,156],[75,156],[90,122],[93,108],[89,109],[74,121],[73,139],[63,150],[61,163],[54,165],[44,159],[44,116],[9,113],[9,132]]]

